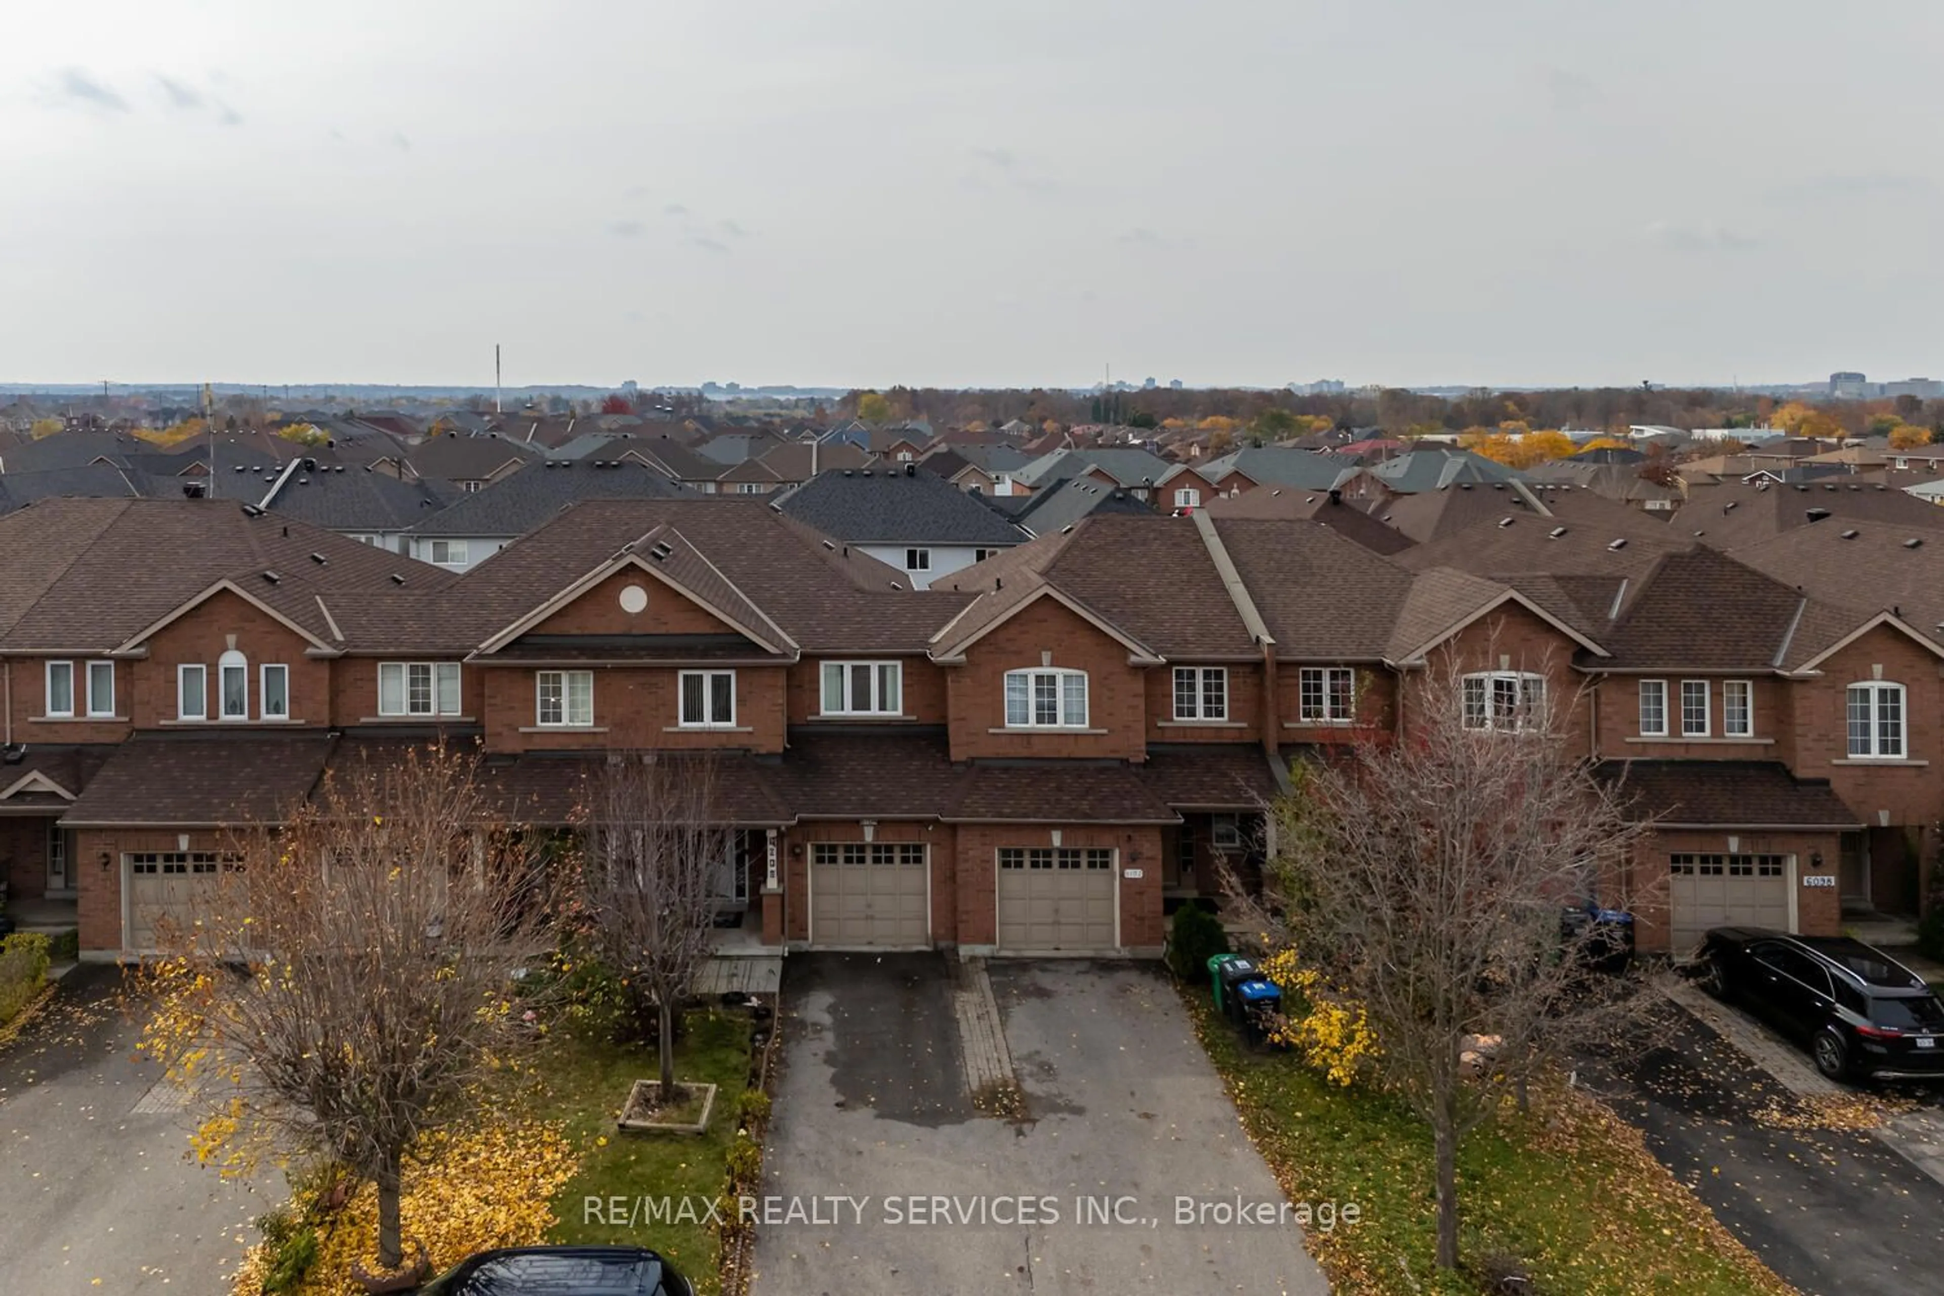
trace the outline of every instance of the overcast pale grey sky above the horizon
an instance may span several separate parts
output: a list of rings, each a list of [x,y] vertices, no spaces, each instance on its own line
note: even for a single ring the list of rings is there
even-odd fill
[[[0,381],[1944,375],[1936,0],[8,8]]]

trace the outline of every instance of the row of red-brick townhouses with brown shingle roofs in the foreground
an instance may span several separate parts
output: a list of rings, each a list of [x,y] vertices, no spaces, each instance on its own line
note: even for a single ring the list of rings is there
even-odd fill
[[[610,752],[712,752],[719,904],[768,944],[1153,954],[1291,760],[1407,725],[1454,655],[1470,723],[1565,707],[1658,820],[1608,880],[1670,880],[1649,948],[1915,905],[1934,595],[1520,525],[1413,567],[1316,521],[1098,515],[914,591],[760,499],[585,501],[465,573],[235,501],[43,501],[0,519],[0,876],[138,956],[227,824],[336,762],[476,742],[566,824]]]

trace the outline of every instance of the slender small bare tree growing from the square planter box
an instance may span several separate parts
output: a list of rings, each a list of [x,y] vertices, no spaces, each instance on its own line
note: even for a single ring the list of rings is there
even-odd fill
[[[638,1026],[655,1026],[667,1100],[675,1010],[713,950],[715,878],[733,845],[715,822],[715,766],[708,756],[614,756],[589,802],[587,919]]]

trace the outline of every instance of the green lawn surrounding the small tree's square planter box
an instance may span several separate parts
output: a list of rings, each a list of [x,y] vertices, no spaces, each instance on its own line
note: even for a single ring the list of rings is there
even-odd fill
[[[715,1292],[717,1238],[706,1222],[610,1218],[589,1197],[622,1197],[634,1216],[642,1199],[713,1201],[725,1191],[723,1158],[737,1133],[737,1100],[748,1078],[748,1018],[692,1012],[677,1045],[675,1078],[715,1084],[715,1111],[706,1135],[622,1135],[620,1106],[636,1080],[653,1080],[653,1045],[616,1045],[562,1032],[538,1059],[542,1094],[535,1115],[558,1121],[579,1150],[581,1166],[554,1197],[560,1220],[548,1242],[647,1245],[667,1255],[698,1292]]]

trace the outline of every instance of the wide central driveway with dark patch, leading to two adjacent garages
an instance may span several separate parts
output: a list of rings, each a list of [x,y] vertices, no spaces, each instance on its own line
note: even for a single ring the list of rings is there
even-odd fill
[[[787,960],[758,1296],[1328,1292],[1157,968],[989,975],[1015,1119],[972,1106],[943,956]]]

